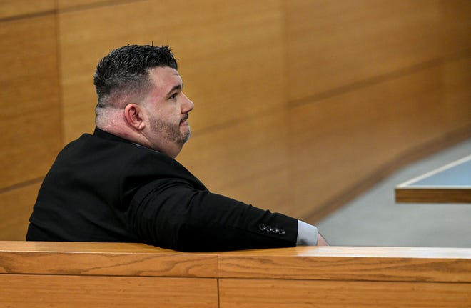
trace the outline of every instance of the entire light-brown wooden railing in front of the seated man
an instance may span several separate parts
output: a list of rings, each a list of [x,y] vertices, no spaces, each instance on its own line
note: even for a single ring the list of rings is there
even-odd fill
[[[0,242],[0,307],[471,307],[471,249]]]

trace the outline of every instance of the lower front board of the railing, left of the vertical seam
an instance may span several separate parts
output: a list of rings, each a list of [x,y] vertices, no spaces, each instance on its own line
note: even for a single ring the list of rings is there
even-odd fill
[[[2,307],[218,307],[216,279],[0,274]]]

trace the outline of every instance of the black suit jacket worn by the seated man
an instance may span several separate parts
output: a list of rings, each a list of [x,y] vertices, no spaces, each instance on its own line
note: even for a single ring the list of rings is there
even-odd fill
[[[171,157],[96,129],[59,153],[26,239],[217,251],[295,246],[297,234],[297,219],[213,194]]]

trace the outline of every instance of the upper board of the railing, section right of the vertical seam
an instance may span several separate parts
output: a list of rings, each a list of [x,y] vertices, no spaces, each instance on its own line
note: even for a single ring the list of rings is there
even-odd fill
[[[471,282],[471,249],[295,247],[274,250],[221,254],[219,277]]]

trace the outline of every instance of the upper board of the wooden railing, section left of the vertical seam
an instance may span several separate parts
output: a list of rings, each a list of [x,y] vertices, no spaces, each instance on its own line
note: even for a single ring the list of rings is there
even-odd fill
[[[47,245],[49,249],[45,248]],[[26,247],[18,251],[18,247],[0,242],[0,273],[135,277],[216,277],[217,274],[216,256],[151,249],[143,244],[28,242]],[[90,247],[93,247],[91,251]],[[113,251],[114,247],[120,248]]]

